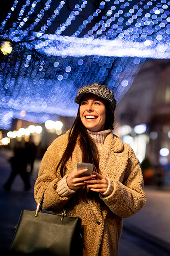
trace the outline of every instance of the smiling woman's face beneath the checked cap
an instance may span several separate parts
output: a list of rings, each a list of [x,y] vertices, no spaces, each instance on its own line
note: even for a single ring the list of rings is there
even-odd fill
[[[90,131],[103,131],[105,128],[106,108],[99,97],[87,94],[83,97],[80,108],[83,125]]]

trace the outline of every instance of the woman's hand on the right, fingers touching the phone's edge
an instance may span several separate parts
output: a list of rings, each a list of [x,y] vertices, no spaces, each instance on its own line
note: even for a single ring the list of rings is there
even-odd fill
[[[85,181],[88,188],[94,192],[105,193],[108,189],[108,180],[101,174],[93,172],[96,175],[96,180]]]

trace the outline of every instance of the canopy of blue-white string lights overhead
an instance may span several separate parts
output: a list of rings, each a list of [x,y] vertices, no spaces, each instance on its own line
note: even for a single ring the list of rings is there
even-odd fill
[[[6,0],[0,21],[0,128],[75,116],[97,81],[119,102],[146,58],[170,58],[170,1]],[[7,51],[8,52],[8,51]],[[25,111],[25,115],[21,115]]]

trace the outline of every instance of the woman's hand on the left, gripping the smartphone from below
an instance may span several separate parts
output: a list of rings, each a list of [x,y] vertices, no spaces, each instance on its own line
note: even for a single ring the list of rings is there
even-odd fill
[[[82,169],[77,171],[77,169],[74,169],[73,172],[71,172],[70,175],[67,177],[67,185],[72,190],[81,189],[83,186],[86,185],[85,181],[90,181],[91,179],[96,178],[96,174],[92,174],[85,177],[79,177],[80,174],[83,172],[86,172],[88,169]]]

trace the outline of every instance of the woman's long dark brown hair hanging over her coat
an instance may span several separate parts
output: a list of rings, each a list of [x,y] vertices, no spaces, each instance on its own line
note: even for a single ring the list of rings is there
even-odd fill
[[[102,100],[102,101],[104,102],[105,108],[106,108],[105,130],[108,130],[108,129],[113,130],[113,123],[114,123],[113,108],[111,107],[111,104],[107,100]],[[68,159],[72,157],[72,153],[77,143],[77,139],[78,139],[80,148],[82,150],[82,162],[93,163],[94,171],[98,172],[99,153],[98,153],[96,144],[94,143],[94,140],[88,134],[87,128],[85,128],[85,126],[82,124],[82,121],[80,119],[79,109],[78,109],[76,119],[68,135],[68,145],[65,148],[62,158],[60,159],[56,168],[56,176],[57,176],[57,170],[59,169],[59,167],[60,167],[61,177],[65,175],[65,164],[67,163]]]

